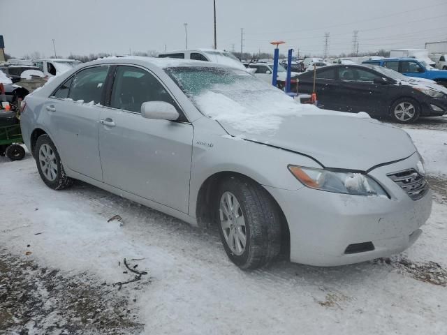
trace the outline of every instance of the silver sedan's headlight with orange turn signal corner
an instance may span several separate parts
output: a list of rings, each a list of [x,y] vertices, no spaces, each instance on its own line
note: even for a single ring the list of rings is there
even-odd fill
[[[288,165],[288,170],[303,185],[316,190],[388,198],[388,194],[377,181],[359,172],[304,168],[296,165]]]

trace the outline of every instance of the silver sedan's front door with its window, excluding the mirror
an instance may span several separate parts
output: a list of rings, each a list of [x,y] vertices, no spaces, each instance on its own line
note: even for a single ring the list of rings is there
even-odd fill
[[[146,101],[165,101],[182,113],[154,75],[118,66],[99,127],[104,182],[187,213],[193,126],[184,115],[178,121],[143,118]]]

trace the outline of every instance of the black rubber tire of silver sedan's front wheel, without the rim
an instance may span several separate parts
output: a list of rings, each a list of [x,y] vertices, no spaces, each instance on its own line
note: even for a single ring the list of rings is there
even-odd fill
[[[244,215],[246,244],[241,255],[228,245],[221,225],[221,198],[228,192],[235,195]],[[241,269],[257,269],[268,265],[281,249],[281,214],[276,202],[261,185],[249,179],[230,177],[219,185],[217,224],[228,258]]]

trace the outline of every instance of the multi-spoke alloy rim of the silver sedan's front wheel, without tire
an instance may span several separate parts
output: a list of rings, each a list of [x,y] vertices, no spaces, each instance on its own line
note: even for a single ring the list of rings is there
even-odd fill
[[[247,244],[247,229],[244,214],[233,193],[226,191],[222,194],[219,217],[223,237],[225,237],[231,252],[235,255],[242,255]]]

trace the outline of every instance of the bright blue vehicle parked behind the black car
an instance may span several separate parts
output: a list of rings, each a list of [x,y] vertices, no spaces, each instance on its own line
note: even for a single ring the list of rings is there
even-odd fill
[[[383,58],[364,61],[363,64],[384,66],[402,73],[408,77],[418,77],[434,80],[438,84],[447,87],[447,70],[438,70],[414,58]]]

